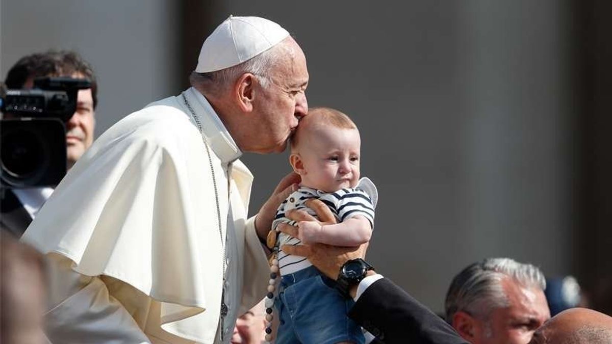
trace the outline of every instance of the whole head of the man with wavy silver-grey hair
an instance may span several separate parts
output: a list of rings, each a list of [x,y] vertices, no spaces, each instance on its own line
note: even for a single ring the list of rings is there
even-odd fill
[[[472,344],[526,344],[550,311],[544,275],[531,264],[490,258],[463,269],[446,294],[446,320]]]

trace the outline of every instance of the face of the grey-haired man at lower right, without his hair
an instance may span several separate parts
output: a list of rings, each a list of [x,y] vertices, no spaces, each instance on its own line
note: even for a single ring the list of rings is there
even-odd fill
[[[455,327],[472,344],[527,344],[534,331],[550,318],[544,293],[512,279],[501,281],[508,307],[494,308],[485,319],[471,318],[469,331]]]

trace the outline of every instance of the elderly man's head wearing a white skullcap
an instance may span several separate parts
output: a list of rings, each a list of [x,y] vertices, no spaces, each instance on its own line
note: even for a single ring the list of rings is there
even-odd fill
[[[282,152],[308,113],[304,52],[264,18],[223,21],[204,42],[190,81],[242,151]]]

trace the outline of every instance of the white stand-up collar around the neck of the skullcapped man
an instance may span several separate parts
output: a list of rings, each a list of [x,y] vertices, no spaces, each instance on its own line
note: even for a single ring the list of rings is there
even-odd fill
[[[230,132],[225,128],[206,97],[195,88],[188,88],[183,94],[193,108],[198,121],[200,121],[204,135],[215,155],[225,164],[234,162],[241,157],[242,151],[238,148]]]

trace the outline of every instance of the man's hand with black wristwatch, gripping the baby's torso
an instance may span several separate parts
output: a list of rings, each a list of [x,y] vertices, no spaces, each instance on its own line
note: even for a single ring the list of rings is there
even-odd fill
[[[308,208],[313,209],[316,215],[321,219],[318,221],[320,225],[333,224],[336,222],[334,214],[327,208],[327,206],[319,200],[308,200],[306,201]],[[305,211],[291,211],[286,216],[294,221],[317,221],[315,217],[308,214]],[[278,228],[283,233],[289,234],[293,237],[299,237],[299,230],[297,227],[289,226],[286,223],[281,223]],[[326,245],[321,243],[314,243],[310,245],[283,245],[281,249],[288,255],[303,256],[310,260],[319,271],[323,272],[330,279],[336,280],[340,267],[346,263],[346,261],[355,258],[364,258],[365,250],[368,244],[363,244],[358,247],[338,247],[332,245]]]

